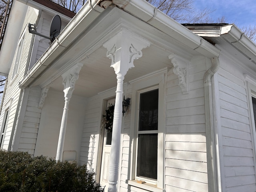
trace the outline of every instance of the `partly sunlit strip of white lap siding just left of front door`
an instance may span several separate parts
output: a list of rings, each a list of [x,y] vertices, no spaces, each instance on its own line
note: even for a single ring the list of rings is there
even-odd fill
[[[80,162],[94,170],[96,169],[96,158],[98,155],[100,115],[100,99],[98,96],[90,98],[85,110]]]

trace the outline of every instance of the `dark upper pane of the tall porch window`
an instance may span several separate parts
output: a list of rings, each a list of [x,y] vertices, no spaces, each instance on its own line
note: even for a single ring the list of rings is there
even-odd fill
[[[140,94],[139,131],[158,130],[158,89]]]

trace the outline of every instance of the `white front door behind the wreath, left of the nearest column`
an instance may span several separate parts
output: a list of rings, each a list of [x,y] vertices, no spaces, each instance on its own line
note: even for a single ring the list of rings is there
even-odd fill
[[[115,99],[110,99],[107,101],[106,110],[110,104],[115,104]],[[100,185],[105,186],[105,191],[108,191],[108,170],[110,162],[110,150],[111,150],[112,132],[108,132],[104,128],[104,139],[102,148],[102,159],[100,168]]]

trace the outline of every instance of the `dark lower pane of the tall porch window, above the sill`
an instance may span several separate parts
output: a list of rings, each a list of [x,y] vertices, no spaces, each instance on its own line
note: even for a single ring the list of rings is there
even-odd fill
[[[157,179],[157,133],[138,135],[137,176]]]

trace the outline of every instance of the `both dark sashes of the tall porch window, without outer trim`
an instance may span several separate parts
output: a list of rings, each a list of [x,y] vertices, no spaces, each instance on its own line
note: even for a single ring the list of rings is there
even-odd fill
[[[136,177],[157,180],[158,89],[140,94]]]

